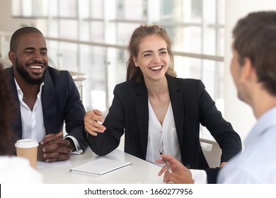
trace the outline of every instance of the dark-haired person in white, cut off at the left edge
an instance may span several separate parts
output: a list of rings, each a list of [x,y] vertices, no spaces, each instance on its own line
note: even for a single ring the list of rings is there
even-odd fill
[[[16,108],[6,76],[0,63],[0,183],[42,183],[42,175],[38,173],[27,159],[11,156],[15,152],[12,132]]]

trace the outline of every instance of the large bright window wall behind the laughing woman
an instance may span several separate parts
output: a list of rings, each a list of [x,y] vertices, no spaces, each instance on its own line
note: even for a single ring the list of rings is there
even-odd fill
[[[174,42],[178,76],[201,79],[223,112],[224,0],[13,0],[12,13],[45,24],[50,65],[87,75],[87,109],[108,109],[115,84],[125,81],[134,28],[158,23]],[[93,103],[97,91],[104,105]]]

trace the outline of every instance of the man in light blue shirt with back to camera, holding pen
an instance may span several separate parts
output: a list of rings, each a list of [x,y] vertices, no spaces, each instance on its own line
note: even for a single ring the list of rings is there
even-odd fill
[[[238,98],[252,107],[258,121],[244,141],[244,150],[220,170],[190,171],[163,155],[173,170],[161,169],[159,175],[166,171],[164,182],[209,182],[215,177],[217,183],[276,183],[276,12],[249,13],[238,21],[233,35],[231,74]]]

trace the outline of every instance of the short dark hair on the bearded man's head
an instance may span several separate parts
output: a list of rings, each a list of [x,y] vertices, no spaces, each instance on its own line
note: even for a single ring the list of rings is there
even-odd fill
[[[16,52],[17,47],[19,45],[20,37],[29,33],[38,33],[40,35],[43,35],[40,30],[34,27],[23,27],[18,30],[16,30],[13,35],[11,36],[11,43],[10,43],[10,51]]]

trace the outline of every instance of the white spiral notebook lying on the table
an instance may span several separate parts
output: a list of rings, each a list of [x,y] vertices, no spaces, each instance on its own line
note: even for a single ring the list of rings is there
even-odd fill
[[[126,161],[115,161],[107,158],[98,158],[91,162],[84,163],[83,165],[76,166],[75,168],[71,168],[71,173],[101,176],[130,164],[132,163]]]

